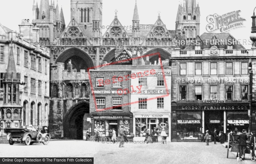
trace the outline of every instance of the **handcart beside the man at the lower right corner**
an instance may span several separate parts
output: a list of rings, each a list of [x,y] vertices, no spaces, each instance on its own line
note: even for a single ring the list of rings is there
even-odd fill
[[[238,136],[239,136],[239,134],[232,134],[232,133],[228,134],[227,158],[229,158],[229,151],[230,152],[236,152],[237,157],[238,157],[238,153],[239,153]],[[251,154],[251,150],[252,150],[251,160],[255,161],[255,159],[256,159],[256,156],[255,156],[255,137],[252,137],[252,135],[249,135],[248,140],[246,141],[246,143],[247,143],[247,146],[246,146],[245,153],[246,154]]]

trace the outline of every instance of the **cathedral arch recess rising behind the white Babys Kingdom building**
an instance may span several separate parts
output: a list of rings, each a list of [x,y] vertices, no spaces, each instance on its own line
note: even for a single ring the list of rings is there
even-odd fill
[[[148,52],[143,54],[143,56],[149,55],[149,54],[154,54],[154,53],[160,53],[162,61],[166,60],[166,59],[169,60],[169,57],[171,57],[171,54],[169,52],[167,52],[166,50],[161,49],[159,47],[149,50]],[[157,64],[158,64],[158,58],[159,58],[158,55],[150,56],[149,61],[151,62],[151,64],[154,64],[154,62],[157,61]]]

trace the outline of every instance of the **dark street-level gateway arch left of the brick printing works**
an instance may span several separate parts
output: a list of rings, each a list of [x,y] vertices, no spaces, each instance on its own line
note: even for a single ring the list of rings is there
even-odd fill
[[[87,101],[80,101],[67,111],[63,122],[65,138],[83,140],[83,130],[88,130],[90,126],[87,122],[89,112],[90,103]]]

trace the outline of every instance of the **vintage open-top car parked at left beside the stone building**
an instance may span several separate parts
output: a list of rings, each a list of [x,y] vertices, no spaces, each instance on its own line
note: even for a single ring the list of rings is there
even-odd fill
[[[50,141],[50,134],[45,131],[35,130],[32,127],[26,126],[26,128],[6,128],[4,132],[7,133],[7,140],[10,145],[16,143],[24,143],[26,145],[32,145],[35,142],[42,142],[47,145]]]

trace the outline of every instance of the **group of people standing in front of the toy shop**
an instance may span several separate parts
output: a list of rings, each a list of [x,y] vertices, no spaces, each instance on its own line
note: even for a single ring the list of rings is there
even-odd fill
[[[146,143],[149,143],[151,141],[158,142],[158,136],[159,136],[159,129],[158,128],[154,128],[154,130],[151,129],[151,131],[150,131],[150,129],[146,129],[144,131],[144,133],[145,133],[145,140],[144,141]],[[167,143],[166,142],[167,134],[165,132],[165,129],[162,129],[160,136],[162,137],[163,144]]]

